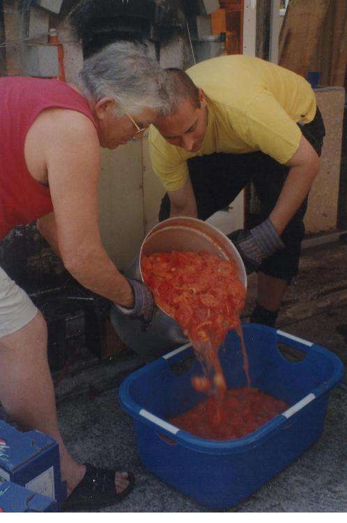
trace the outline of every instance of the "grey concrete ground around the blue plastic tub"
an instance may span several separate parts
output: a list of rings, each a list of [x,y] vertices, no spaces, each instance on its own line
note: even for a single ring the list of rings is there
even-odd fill
[[[279,327],[337,353],[347,364],[347,245],[303,253],[301,273],[288,291]],[[249,279],[249,303],[254,279]],[[245,309],[247,313],[247,307]],[[56,390],[59,421],[70,452],[82,462],[136,475],[134,491],[122,503],[99,512],[208,512],[165,485],[142,466],[132,419],[117,401],[118,385],[139,367],[134,354],[87,364],[66,376]],[[347,511],[347,379],[332,390],[323,434],[296,462],[258,492],[226,512]]]

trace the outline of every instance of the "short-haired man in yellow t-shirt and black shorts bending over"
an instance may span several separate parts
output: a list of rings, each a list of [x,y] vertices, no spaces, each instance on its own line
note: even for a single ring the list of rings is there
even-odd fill
[[[167,71],[170,114],[157,118],[149,138],[153,169],[167,189],[160,219],[206,220],[252,181],[261,211],[249,230],[229,237],[247,272],[258,272],[251,321],[275,325],[298,272],[325,135],[314,92],[299,75],[242,55]]]

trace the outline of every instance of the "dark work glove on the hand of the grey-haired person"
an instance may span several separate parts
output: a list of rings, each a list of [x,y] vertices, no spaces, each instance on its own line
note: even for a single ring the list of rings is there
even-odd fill
[[[127,280],[134,294],[134,307],[133,309],[126,309],[121,307],[121,305],[115,304],[117,309],[125,316],[128,316],[128,318],[141,320],[145,324],[151,323],[155,309],[155,301],[151,289],[146,283],[141,281],[132,278],[127,278]]]

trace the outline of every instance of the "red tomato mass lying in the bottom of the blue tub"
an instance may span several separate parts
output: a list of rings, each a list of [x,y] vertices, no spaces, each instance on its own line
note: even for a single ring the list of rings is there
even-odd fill
[[[231,388],[222,399],[211,396],[170,422],[199,438],[226,441],[247,436],[287,408],[257,388]]]

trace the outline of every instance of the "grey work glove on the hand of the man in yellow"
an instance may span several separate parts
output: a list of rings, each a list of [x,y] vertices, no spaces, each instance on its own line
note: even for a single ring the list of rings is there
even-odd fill
[[[252,229],[236,230],[227,237],[238,249],[247,274],[258,270],[263,260],[284,249],[284,243],[269,219]]]

